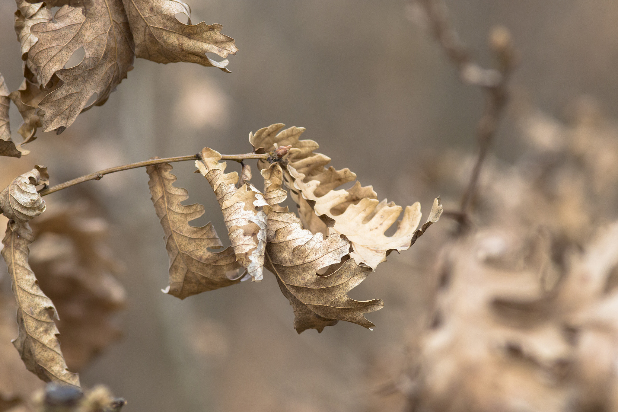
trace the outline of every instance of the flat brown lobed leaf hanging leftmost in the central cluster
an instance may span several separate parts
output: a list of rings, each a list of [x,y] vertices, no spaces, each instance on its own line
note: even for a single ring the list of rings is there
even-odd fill
[[[194,227],[188,223],[204,214],[204,206],[180,203],[188,199],[188,192],[174,187],[176,176],[171,170],[169,163],[146,167],[151,200],[163,227],[169,255],[169,286],[164,292],[184,299],[240,282],[237,277],[230,279],[226,275],[239,267],[234,250],[231,247],[219,253],[208,250],[222,247],[213,225]]]

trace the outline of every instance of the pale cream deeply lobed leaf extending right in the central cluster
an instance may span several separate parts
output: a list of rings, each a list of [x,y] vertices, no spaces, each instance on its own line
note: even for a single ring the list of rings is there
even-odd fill
[[[401,206],[386,199],[378,201],[371,187],[361,187],[357,182],[347,190],[335,190],[344,183],[352,182],[356,175],[349,169],[335,170],[326,166],[331,159],[320,153],[313,153],[319,146],[313,140],[299,140],[303,128],[291,127],[281,130],[282,124],[271,125],[249,136],[249,141],[257,153],[268,153],[277,146],[292,145],[287,154],[286,185],[292,192],[292,199],[299,206],[301,216],[309,227],[317,227],[316,232],[324,233],[315,216],[325,216],[329,221],[328,233],[341,233],[352,244],[350,256],[355,261],[365,263],[376,269],[379,263],[393,251],[407,250],[427,227],[438,221],[442,213],[439,200],[434,201],[430,219],[417,230],[421,219],[420,203],[407,206],[400,221]],[[279,132],[279,133],[277,133]],[[261,163],[261,167],[265,167]],[[307,206],[310,208],[308,209]],[[313,215],[311,216],[311,209]],[[397,221],[397,232],[384,235]],[[303,222],[304,223],[304,222]],[[312,230],[313,232],[313,230]]]

